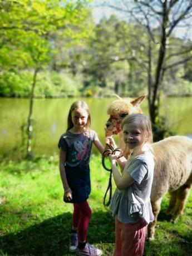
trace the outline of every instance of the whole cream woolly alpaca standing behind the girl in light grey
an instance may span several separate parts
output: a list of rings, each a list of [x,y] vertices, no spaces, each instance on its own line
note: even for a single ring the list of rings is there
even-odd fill
[[[116,95],[117,96],[117,95]],[[112,102],[107,110],[110,119],[106,122],[106,136],[120,135],[120,148],[125,149],[122,139],[121,122],[126,115],[142,113],[141,102],[145,95],[137,98],[121,99]],[[159,142],[152,143],[155,169],[151,189],[151,205],[155,219],[148,226],[147,236],[154,239],[157,215],[160,211],[161,200],[169,191],[170,202],[167,214],[172,214],[175,223],[183,213],[186,199],[192,185],[192,140],[185,136],[170,136]],[[124,153],[129,156],[129,149]]]

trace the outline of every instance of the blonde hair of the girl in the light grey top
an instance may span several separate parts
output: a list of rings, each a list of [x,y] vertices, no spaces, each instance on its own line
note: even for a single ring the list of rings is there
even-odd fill
[[[144,142],[145,135],[147,135],[147,140],[145,143],[152,140],[152,129],[151,129],[151,121],[149,118],[143,114],[131,114],[127,115],[125,119],[122,121],[121,129],[124,128],[124,125],[131,124],[132,122],[137,122],[141,131],[142,131],[142,139]]]

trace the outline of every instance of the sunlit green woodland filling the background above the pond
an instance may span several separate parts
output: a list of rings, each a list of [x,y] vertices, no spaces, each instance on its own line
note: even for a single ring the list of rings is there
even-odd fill
[[[148,7],[139,6],[143,8],[140,13],[147,10],[148,17],[153,12],[151,20],[145,17],[149,24],[144,17],[140,21],[140,17],[132,19],[130,9],[138,8],[137,1],[107,2],[116,3],[110,6],[115,14],[99,21],[97,17],[95,23],[93,7],[105,1],[97,1],[95,6],[92,3],[92,8],[87,1],[0,1],[0,96],[29,97],[35,76],[35,97],[147,93],[149,54],[153,76],[164,32],[162,23],[155,20],[155,8],[160,12],[163,2],[175,3],[167,7],[170,20],[165,30],[173,32],[169,31],[166,38],[165,74],[160,91],[166,96],[191,96],[190,1],[143,1],[151,3]],[[118,2],[126,2],[127,6],[117,9]],[[180,17],[184,12],[185,19]],[[99,12],[94,15],[102,17]],[[159,13],[159,19],[161,16]],[[174,22],[175,27],[171,28]],[[178,27],[183,29],[180,37],[174,33]]]

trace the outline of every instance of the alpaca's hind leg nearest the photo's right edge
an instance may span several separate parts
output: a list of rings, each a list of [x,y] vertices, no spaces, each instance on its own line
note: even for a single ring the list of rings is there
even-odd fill
[[[175,223],[179,215],[183,213],[190,188],[191,188],[191,184],[184,184],[177,190],[176,204],[175,204],[175,208],[172,216],[173,223]]]

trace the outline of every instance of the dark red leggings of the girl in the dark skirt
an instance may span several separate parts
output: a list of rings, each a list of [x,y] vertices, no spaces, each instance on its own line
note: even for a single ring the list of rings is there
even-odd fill
[[[73,208],[72,225],[73,227],[78,227],[78,240],[81,242],[86,241],[88,223],[91,218],[91,208],[87,200],[83,203],[74,203]]]

